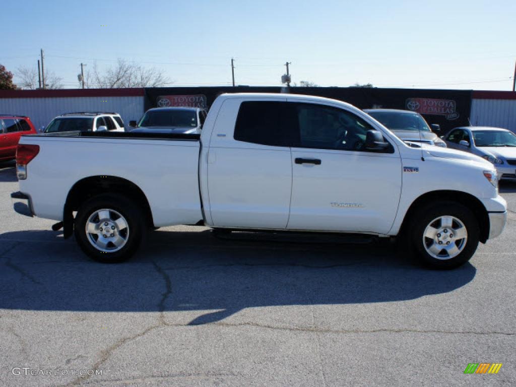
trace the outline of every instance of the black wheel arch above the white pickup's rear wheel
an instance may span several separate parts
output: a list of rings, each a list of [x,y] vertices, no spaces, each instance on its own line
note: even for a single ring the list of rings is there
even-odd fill
[[[95,175],[77,181],[68,192],[63,208],[63,236],[68,238],[73,233],[73,212],[81,203],[101,193],[120,193],[141,205],[148,225],[153,225],[151,207],[145,193],[133,182],[118,176]]]

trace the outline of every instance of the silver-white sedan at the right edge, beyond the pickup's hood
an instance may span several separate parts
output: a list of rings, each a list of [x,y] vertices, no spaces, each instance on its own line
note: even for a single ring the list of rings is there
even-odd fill
[[[516,181],[516,135],[486,126],[456,127],[443,136],[449,148],[476,154],[492,163],[501,180]]]

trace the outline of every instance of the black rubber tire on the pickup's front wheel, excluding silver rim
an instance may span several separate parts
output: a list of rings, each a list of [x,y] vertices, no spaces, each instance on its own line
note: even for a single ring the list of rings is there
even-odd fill
[[[448,238],[449,234],[446,235],[444,232],[441,232],[436,234],[436,236],[440,235],[439,238],[441,238],[442,235],[442,238],[448,238],[447,240],[440,240],[442,245],[437,244],[437,239],[424,238],[425,230],[432,224],[434,228],[442,230],[441,220],[432,223],[433,220],[440,217],[453,217],[459,220],[467,232],[467,237],[465,239],[451,240]],[[460,227],[460,223],[456,222],[456,220],[453,221],[453,227]],[[462,229],[462,227],[460,228]],[[447,228],[444,228],[444,231],[450,232]],[[429,203],[418,209],[409,223],[405,238],[410,244],[408,248],[411,250],[412,256],[417,257],[425,266],[433,269],[454,269],[469,261],[473,256],[478,246],[479,234],[478,221],[471,209],[458,202],[439,201]],[[440,253],[435,253],[438,256],[435,257],[427,251],[427,248],[429,249],[432,245],[435,245],[437,250],[441,247],[446,248],[447,244],[449,244],[450,248],[455,245],[460,252],[455,256],[450,256],[446,250],[442,250]]]

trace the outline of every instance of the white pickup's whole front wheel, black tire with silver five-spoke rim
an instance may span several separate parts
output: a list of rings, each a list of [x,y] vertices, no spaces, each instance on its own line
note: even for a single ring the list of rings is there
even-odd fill
[[[427,266],[453,269],[475,253],[479,241],[478,221],[466,206],[437,202],[418,211],[411,222],[412,249]]]

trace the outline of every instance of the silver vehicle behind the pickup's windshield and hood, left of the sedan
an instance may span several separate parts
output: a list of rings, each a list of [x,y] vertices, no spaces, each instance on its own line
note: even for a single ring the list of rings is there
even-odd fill
[[[364,111],[403,141],[446,148],[445,142],[433,133],[440,131],[439,125],[431,125],[430,130],[425,119],[415,111],[397,109],[364,109]]]

